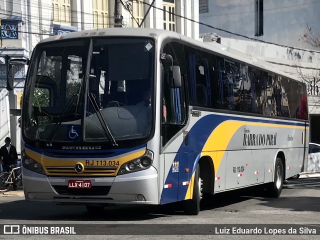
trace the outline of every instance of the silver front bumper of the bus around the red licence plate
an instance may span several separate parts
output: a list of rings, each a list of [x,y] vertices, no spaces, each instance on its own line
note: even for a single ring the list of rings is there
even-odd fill
[[[90,189],[70,189],[68,180],[91,180]],[[22,174],[25,199],[65,203],[158,204],[157,171],[148,169],[115,177],[56,177],[27,169]]]

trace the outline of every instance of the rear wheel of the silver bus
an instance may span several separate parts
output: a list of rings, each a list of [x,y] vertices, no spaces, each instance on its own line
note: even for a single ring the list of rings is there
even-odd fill
[[[274,181],[267,183],[267,196],[278,197],[282,191],[283,180],[283,164],[281,158],[277,157],[274,164]]]

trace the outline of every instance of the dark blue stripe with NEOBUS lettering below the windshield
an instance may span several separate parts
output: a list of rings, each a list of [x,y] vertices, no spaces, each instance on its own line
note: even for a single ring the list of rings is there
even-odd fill
[[[36,148],[33,146],[30,146],[28,144],[25,144],[25,148],[28,148],[32,151],[38,152],[40,154],[43,154],[45,156],[50,157],[62,157],[62,158],[102,158],[102,157],[113,157],[117,155],[121,155],[127,152],[131,152],[140,148],[146,148],[146,143],[130,147],[130,148],[119,148],[119,149],[104,149],[104,150],[57,150],[57,149],[44,149],[44,148]],[[53,153],[53,154],[52,154]],[[75,153],[74,155],[69,154]],[[79,155],[83,153],[83,155]],[[88,155],[88,154],[91,155]],[[104,153],[104,154],[103,154]],[[68,154],[68,155],[65,155]]]

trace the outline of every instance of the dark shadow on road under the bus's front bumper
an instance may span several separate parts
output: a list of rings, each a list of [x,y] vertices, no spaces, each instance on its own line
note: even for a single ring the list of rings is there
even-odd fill
[[[46,202],[11,201],[0,204],[0,219],[19,220],[114,220],[139,221],[171,215],[183,215],[174,204],[113,205],[98,214],[87,212],[84,205],[58,205]]]

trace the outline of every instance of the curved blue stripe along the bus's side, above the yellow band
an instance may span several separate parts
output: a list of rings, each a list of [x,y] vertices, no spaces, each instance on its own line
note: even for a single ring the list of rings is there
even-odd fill
[[[261,122],[269,124],[281,124],[281,125],[291,125],[291,126],[309,126],[308,122],[287,122],[280,120],[269,120],[269,119],[257,119],[257,118],[246,118],[241,116],[232,115],[218,115],[209,114],[200,118],[189,130],[189,144],[184,146],[183,143],[177,150],[177,154],[174,157],[174,162],[179,161],[180,156],[183,158],[179,161],[179,172],[172,172],[171,167],[169,169],[168,175],[165,179],[164,184],[171,184],[170,188],[163,188],[160,198],[160,203],[169,203],[173,201],[179,201],[185,199],[185,194],[187,191],[187,185],[182,186],[183,181],[190,181],[192,173],[195,170],[196,164],[199,160],[201,150],[203,146],[212,133],[212,131],[223,121],[226,120],[236,120],[245,122]],[[244,123],[245,124],[245,123]],[[223,137],[223,136],[222,136]],[[183,154],[185,157],[182,157]],[[181,155],[182,154],[182,155]],[[192,161],[194,159],[194,161]],[[189,174],[185,174],[183,171],[185,168],[189,168]],[[191,170],[192,169],[192,170]]]

